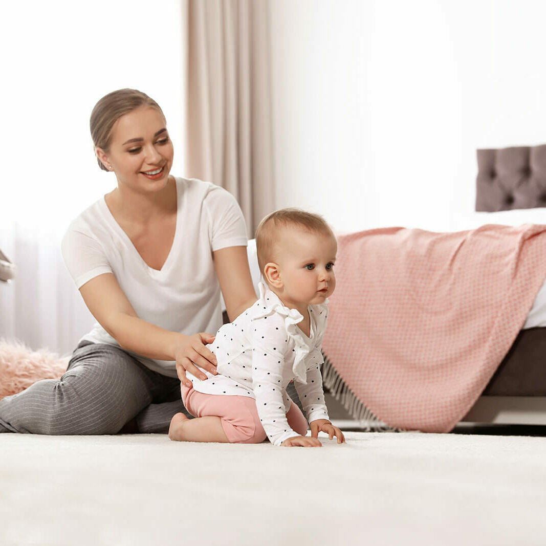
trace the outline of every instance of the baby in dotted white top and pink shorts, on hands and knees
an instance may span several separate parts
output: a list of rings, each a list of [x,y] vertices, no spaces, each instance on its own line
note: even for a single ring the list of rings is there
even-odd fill
[[[224,324],[208,347],[218,375],[204,381],[187,373],[182,384],[188,419],[171,420],[171,440],[321,446],[319,431],[345,442],[330,423],[324,403],[322,338],[328,296],[334,292],[337,242],[321,216],[283,209],[265,217],[256,231],[258,263],[268,286],[258,301]],[[311,426],[286,392],[294,386]]]

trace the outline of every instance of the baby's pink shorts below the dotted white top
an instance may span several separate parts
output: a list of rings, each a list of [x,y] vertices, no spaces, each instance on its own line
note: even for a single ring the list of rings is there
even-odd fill
[[[193,387],[181,386],[182,402],[194,417],[215,416],[231,443],[260,443],[267,435],[260,423],[256,400],[248,396],[203,394]],[[307,434],[307,420],[300,408],[290,401],[286,418],[299,435]]]

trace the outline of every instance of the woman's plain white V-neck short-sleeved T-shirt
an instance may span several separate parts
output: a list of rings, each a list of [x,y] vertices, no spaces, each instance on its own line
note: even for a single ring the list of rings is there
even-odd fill
[[[103,273],[114,274],[146,322],[187,335],[215,333],[222,312],[212,252],[246,246],[245,219],[225,189],[195,179],[175,180],[176,231],[161,270],[140,257],[104,198],[70,224],[61,245],[64,262],[78,288]],[[82,340],[119,345],[98,323]],[[151,370],[176,377],[174,361],[135,356]]]

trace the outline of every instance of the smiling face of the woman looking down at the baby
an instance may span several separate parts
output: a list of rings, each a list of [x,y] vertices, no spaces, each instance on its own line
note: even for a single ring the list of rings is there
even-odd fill
[[[174,150],[162,113],[146,106],[121,116],[112,129],[109,152],[97,153],[120,185],[149,192],[167,184]]]

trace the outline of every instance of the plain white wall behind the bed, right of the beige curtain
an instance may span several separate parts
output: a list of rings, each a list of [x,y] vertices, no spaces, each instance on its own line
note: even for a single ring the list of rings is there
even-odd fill
[[[340,232],[473,212],[476,149],[546,143],[540,0],[271,2],[277,207]]]

